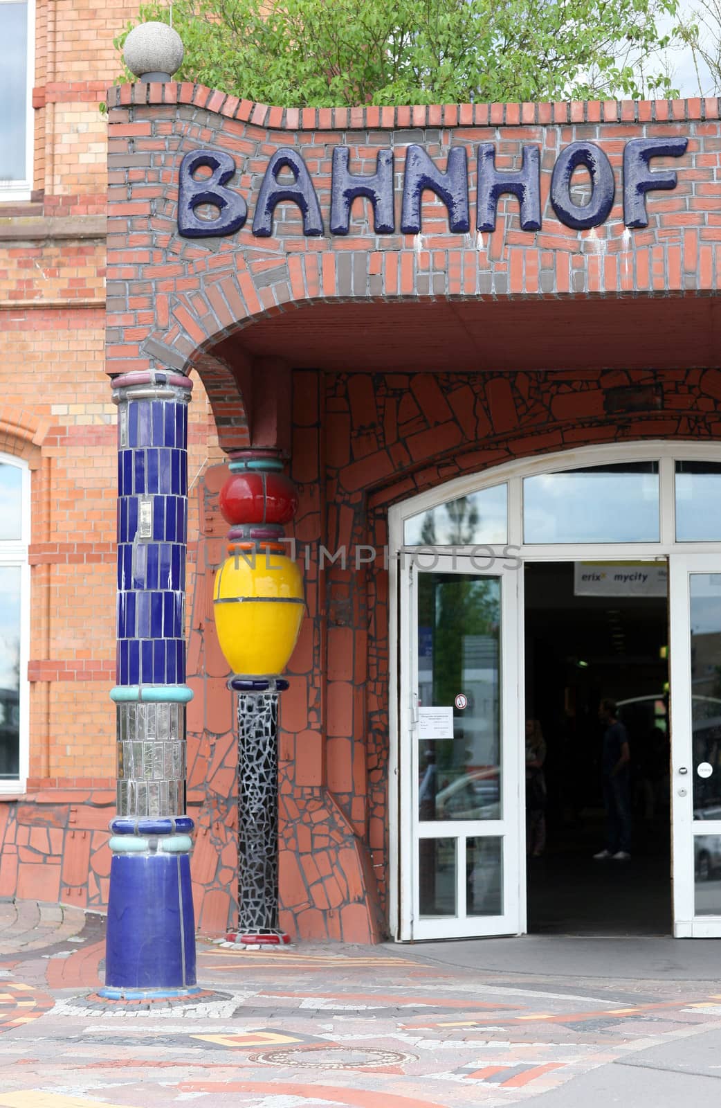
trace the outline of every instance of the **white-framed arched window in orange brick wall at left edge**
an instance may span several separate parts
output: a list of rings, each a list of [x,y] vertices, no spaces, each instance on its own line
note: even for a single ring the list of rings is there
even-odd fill
[[[28,776],[30,471],[0,454],[0,794]]]

